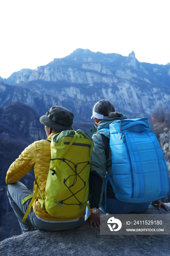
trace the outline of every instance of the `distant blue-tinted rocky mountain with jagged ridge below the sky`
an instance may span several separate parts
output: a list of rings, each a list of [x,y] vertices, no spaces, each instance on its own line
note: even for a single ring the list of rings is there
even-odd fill
[[[15,86],[1,82],[1,107],[20,101],[43,114],[62,105],[82,121],[103,98],[129,117],[150,116],[160,103],[170,103],[170,65],[140,63],[134,52],[125,57],[77,49],[36,70],[15,72],[4,82]]]

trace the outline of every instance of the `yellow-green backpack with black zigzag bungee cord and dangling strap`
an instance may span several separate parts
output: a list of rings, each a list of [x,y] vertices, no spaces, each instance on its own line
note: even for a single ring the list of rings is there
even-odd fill
[[[89,194],[92,151],[91,136],[80,129],[62,131],[53,136],[50,170],[45,190],[46,199],[43,199],[38,185],[35,191],[36,194],[39,191],[41,199],[38,201],[41,203],[41,208],[45,205],[51,216],[59,219],[76,219],[83,215]],[[32,203],[36,197],[35,193]],[[30,210],[27,211],[23,222]]]

